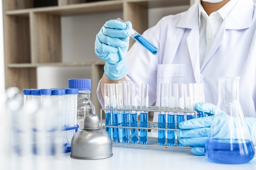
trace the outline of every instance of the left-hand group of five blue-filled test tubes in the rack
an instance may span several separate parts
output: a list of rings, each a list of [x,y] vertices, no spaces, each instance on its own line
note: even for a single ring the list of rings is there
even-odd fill
[[[121,81],[117,84],[104,84],[105,108],[117,109],[105,111],[106,126],[138,127],[137,94],[135,84],[130,81]],[[141,106],[148,107],[148,84],[141,84]],[[120,110],[118,110],[120,109]],[[127,110],[125,110],[127,109]],[[148,127],[148,112],[141,111],[140,126]],[[148,142],[148,130],[138,128],[108,128],[112,141],[138,144]]]

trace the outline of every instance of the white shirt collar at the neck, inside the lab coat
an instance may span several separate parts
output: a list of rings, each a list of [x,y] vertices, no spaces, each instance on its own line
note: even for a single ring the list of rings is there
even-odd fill
[[[227,4],[225,4],[223,7],[221,7],[220,9],[218,9],[216,12],[221,16],[222,20],[224,20],[224,18],[228,15],[228,13],[231,11],[231,9],[234,7],[234,5],[236,4],[238,0],[230,0],[229,2],[227,2]],[[202,13],[204,13],[205,15],[207,15],[207,13],[205,12],[202,4],[199,2],[198,3],[198,9],[199,9],[199,26],[201,24],[201,15]]]

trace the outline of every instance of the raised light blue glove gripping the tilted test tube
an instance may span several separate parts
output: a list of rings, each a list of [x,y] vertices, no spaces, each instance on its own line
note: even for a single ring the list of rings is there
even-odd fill
[[[126,22],[130,27],[132,24]],[[126,24],[118,20],[107,21],[96,35],[95,54],[106,62],[104,73],[112,80],[118,80],[127,74],[126,53],[130,34]]]

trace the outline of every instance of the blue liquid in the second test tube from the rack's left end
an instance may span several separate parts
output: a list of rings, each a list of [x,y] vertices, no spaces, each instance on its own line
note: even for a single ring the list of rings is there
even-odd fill
[[[117,111],[117,113],[113,113],[113,126],[121,126],[121,113]],[[115,142],[122,142],[122,129],[121,128],[113,128],[113,139]]]

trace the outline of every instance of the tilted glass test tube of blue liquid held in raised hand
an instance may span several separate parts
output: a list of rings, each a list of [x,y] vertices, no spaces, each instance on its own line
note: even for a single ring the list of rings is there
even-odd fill
[[[120,21],[120,22],[124,22],[120,18],[117,18],[117,20]],[[126,26],[127,26],[127,31],[130,33],[131,38],[133,38],[135,41],[139,42],[139,44],[144,46],[152,54],[156,55],[158,53],[157,47],[155,47],[148,40],[146,40],[146,38],[142,37],[139,33],[137,33],[137,31],[132,29],[128,24],[126,24]]]

